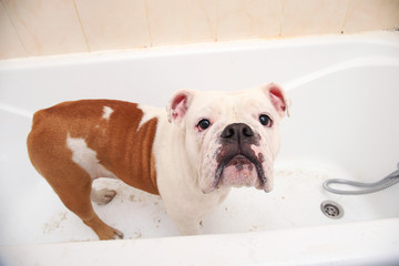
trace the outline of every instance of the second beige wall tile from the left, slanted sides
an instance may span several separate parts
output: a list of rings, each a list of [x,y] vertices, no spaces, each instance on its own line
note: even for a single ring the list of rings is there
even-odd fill
[[[3,0],[29,55],[88,51],[72,0]]]

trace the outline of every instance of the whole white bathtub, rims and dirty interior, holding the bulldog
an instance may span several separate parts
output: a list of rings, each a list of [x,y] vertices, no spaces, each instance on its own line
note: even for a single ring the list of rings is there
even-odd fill
[[[33,111],[75,99],[164,106],[177,89],[280,83],[291,98],[275,190],[234,190],[180,237],[158,197],[99,181],[119,195],[99,215],[125,234],[99,242],[33,170]],[[399,185],[362,196],[323,190],[327,178],[380,180],[399,161],[399,34],[158,48],[0,62],[0,265],[399,264]],[[340,219],[320,212],[326,200]],[[88,242],[89,241],[89,242]]]

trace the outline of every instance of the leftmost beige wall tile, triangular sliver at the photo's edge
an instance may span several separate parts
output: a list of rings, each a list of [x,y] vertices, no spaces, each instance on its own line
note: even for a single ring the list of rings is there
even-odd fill
[[[0,60],[27,57],[2,1],[0,1]]]

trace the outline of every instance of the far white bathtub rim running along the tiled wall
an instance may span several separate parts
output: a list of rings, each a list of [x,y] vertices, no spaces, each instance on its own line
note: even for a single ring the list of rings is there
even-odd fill
[[[379,30],[350,34],[300,35],[273,39],[259,38],[225,42],[187,43],[127,50],[102,50],[83,53],[64,53],[42,57],[14,58],[0,60],[0,71],[11,69],[41,68],[49,65],[147,59],[157,57],[163,58],[202,53],[228,53],[259,49],[286,49],[290,47],[317,47],[326,44],[342,44],[348,42],[386,45],[399,49],[399,31]]]

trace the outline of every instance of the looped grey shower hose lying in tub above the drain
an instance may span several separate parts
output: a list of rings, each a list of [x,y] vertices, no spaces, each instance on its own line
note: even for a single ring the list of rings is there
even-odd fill
[[[335,193],[335,194],[364,195],[364,194],[370,194],[370,193],[382,191],[382,190],[388,188],[397,183],[399,183],[399,163],[397,164],[397,170],[395,172],[392,172],[387,177],[385,177],[378,182],[375,182],[375,183],[361,183],[361,182],[356,182],[356,181],[334,178],[334,180],[327,180],[325,183],[323,183],[323,186],[326,191]],[[354,187],[360,187],[362,190],[356,190],[356,191],[335,190],[335,188],[330,187],[331,184],[350,185]]]

